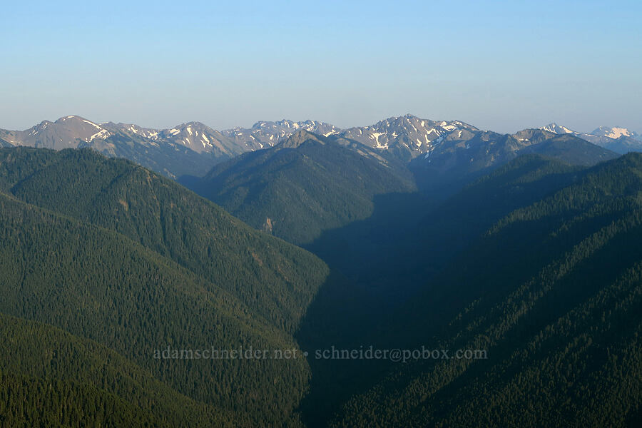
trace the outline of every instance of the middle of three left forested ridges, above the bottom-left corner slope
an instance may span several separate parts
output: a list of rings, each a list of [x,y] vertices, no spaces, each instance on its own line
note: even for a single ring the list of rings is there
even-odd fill
[[[289,335],[223,287],[122,235],[9,196],[0,195],[0,212],[0,312],[96,341],[247,424],[296,422],[309,376],[305,360],[154,357],[167,347],[296,349]]]

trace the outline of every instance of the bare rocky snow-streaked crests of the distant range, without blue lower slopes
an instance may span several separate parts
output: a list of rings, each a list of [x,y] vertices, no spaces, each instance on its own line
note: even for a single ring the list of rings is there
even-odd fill
[[[599,143],[626,137],[642,141],[642,135],[628,128],[600,126],[591,133],[580,133],[549,123],[539,129],[555,134],[570,133],[574,136]],[[31,146],[54,148],[77,148],[90,145],[94,141],[107,140],[111,136],[123,134],[153,142],[177,143],[197,153],[218,152],[224,156],[236,156],[245,151],[275,146],[297,131],[307,131],[320,136],[341,136],[359,141],[365,146],[388,151],[407,152],[412,157],[427,153],[446,136],[457,131],[480,132],[479,128],[462,121],[432,121],[407,114],[396,116],[369,126],[338,128],[322,121],[259,121],[251,128],[235,127],[216,131],[200,122],[182,123],[172,128],[154,129],[133,123],[96,123],[81,116],[64,116],[58,120],[42,121],[25,131],[0,129],[0,140],[11,146]],[[458,137],[461,137],[459,135]]]

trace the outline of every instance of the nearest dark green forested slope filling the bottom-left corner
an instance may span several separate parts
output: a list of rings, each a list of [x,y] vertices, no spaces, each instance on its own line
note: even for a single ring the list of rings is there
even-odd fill
[[[88,419],[168,428],[241,422],[175,392],[117,352],[56,327],[0,314],[0,336],[0,352],[11,355],[0,362],[0,396],[6,397],[0,426],[81,427]]]

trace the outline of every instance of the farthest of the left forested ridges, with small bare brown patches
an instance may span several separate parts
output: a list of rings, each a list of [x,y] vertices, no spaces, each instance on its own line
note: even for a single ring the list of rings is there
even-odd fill
[[[0,188],[126,235],[289,332],[327,274],[310,253],[255,232],[171,180],[93,151],[1,151]]]

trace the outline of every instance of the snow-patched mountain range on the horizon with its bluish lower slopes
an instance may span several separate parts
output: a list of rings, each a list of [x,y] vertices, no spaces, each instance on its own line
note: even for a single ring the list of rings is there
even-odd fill
[[[640,136],[626,128],[597,128],[576,133],[551,123],[542,128],[569,133],[617,153],[642,150]],[[0,146],[36,148],[93,148],[106,156],[128,158],[170,178],[203,176],[216,164],[248,151],[270,148],[297,131],[357,141],[402,161],[426,156],[443,141],[466,142],[488,133],[462,121],[430,121],[406,115],[387,118],[372,126],[341,129],[320,121],[260,121],[251,128],[216,131],[200,122],[168,129],[128,123],[96,123],[81,116],[43,121],[25,131],[0,130]],[[519,133],[517,133],[519,134]],[[518,138],[514,134],[514,138]],[[438,151],[436,152],[438,153]]]

